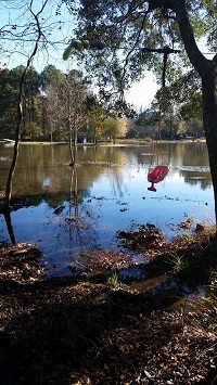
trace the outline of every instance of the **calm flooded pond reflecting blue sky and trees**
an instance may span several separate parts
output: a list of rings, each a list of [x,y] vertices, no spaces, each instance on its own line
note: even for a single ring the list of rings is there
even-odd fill
[[[13,147],[0,143],[0,190]],[[68,274],[85,253],[118,249],[116,233],[152,223],[173,239],[187,218],[214,222],[214,196],[206,144],[78,146],[72,169],[67,145],[21,144],[13,181],[17,205],[11,213],[18,243],[35,244],[49,275]],[[169,172],[149,191],[149,172],[166,164]],[[25,200],[25,196],[28,198]],[[22,201],[20,201],[22,198]],[[22,202],[22,203],[21,203]],[[0,215],[0,242],[10,242]],[[135,256],[139,258],[138,256]]]

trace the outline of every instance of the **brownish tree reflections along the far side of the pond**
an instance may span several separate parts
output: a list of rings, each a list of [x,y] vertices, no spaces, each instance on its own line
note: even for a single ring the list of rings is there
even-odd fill
[[[163,152],[168,158],[169,165],[207,166],[207,150],[205,143],[164,143]],[[127,174],[131,175],[131,166],[150,165],[153,153],[153,143],[144,146],[132,147],[78,147],[80,167],[78,174],[78,198],[90,195],[93,180],[100,181],[102,175],[110,177],[112,192],[114,195],[123,196],[127,185]],[[156,153],[162,152],[162,145],[156,149]],[[148,155],[145,155],[148,154]],[[151,154],[151,155],[149,155]],[[68,197],[68,184],[71,170],[66,165],[68,149],[65,145],[24,145],[21,146],[20,161],[14,176],[14,194],[39,195],[43,193],[43,198],[50,206],[61,205]],[[156,156],[154,157],[154,162]],[[181,174],[186,178],[186,174]],[[200,175],[201,176],[201,175]],[[197,175],[196,175],[197,177]],[[203,176],[204,177],[204,176]],[[1,176],[2,178],[2,176]],[[199,184],[202,189],[209,185],[208,177],[193,180],[186,178],[187,183]]]

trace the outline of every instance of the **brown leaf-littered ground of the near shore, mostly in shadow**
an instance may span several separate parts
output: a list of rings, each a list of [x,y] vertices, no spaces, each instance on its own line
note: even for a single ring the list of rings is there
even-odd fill
[[[142,246],[141,231],[119,235],[129,247],[140,239],[140,253],[148,254],[150,245],[148,277],[181,280],[177,265],[168,265],[175,244],[161,239],[157,252],[159,235],[152,233],[152,242]],[[196,259],[204,242],[212,243],[209,235],[188,243],[177,239],[176,251],[179,247],[189,262],[194,260],[189,265],[194,281],[207,284],[209,273]],[[93,255],[92,266],[97,260]],[[100,253],[100,274],[47,280],[35,247],[1,244],[0,261],[2,385],[216,383],[216,303],[189,300],[178,307],[173,298],[168,306],[166,297],[159,301],[132,288],[137,286],[111,284],[107,272],[127,264],[111,252]]]

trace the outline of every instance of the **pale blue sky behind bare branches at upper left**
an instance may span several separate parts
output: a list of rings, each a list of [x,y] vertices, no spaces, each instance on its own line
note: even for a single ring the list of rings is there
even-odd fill
[[[25,65],[28,55],[34,49],[36,37],[36,22],[29,11],[29,0],[26,1],[0,1],[0,30],[8,30],[7,35],[1,35],[1,66],[5,63],[9,68],[23,64]],[[33,10],[38,13],[44,0],[34,0]],[[17,7],[15,7],[17,4]],[[22,4],[21,7],[18,7]],[[56,2],[48,0],[43,12],[39,16],[41,29],[47,40],[40,39],[39,50],[34,59],[34,67],[37,70],[43,69],[47,64],[53,64],[60,69],[66,70],[66,64],[62,60],[63,51],[71,39],[75,23],[67,13],[65,7],[61,9],[61,15],[56,16]],[[61,23],[64,21],[64,23]],[[31,23],[33,28],[25,29]],[[16,29],[10,29],[9,25],[17,25]],[[16,36],[25,30],[24,38],[16,39]],[[10,33],[11,31],[11,33]],[[12,35],[14,33],[14,36]],[[3,48],[3,50],[2,50]],[[8,51],[8,52],[7,52]],[[62,68],[61,68],[62,67]]]

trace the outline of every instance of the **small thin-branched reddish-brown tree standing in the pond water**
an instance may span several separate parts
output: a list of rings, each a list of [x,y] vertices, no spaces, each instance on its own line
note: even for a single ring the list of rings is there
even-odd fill
[[[78,133],[86,125],[87,85],[82,74],[73,69],[68,74],[62,74],[59,80],[53,79],[47,82],[43,89],[51,141],[53,140],[53,131],[55,140],[59,138],[68,140],[69,165],[74,166],[77,161]],[[64,132],[67,134],[64,136]]]

